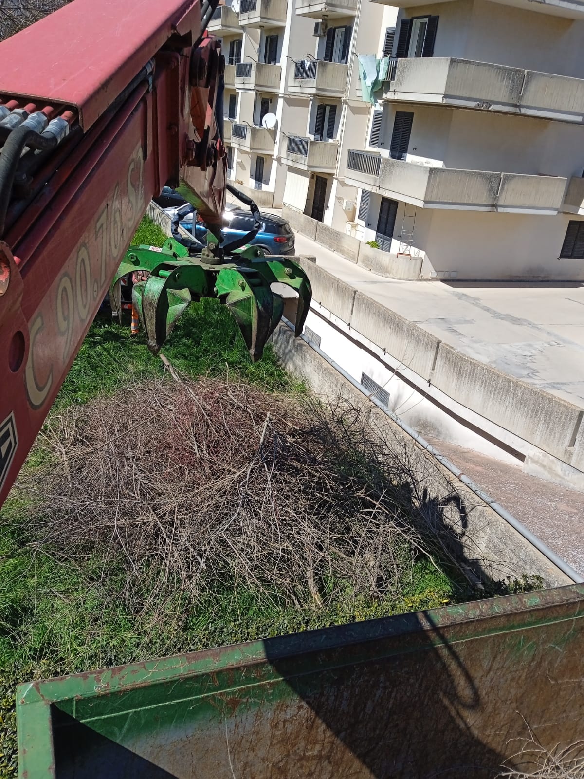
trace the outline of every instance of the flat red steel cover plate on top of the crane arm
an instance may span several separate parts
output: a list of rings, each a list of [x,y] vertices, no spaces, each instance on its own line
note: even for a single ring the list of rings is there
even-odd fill
[[[75,0],[0,44],[0,94],[75,105],[88,129],[174,30],[199,34],[200,7]]]

